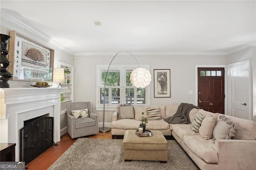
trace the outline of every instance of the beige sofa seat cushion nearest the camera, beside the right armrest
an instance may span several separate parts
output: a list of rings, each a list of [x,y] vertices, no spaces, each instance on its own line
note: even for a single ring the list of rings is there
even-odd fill
[[[187,135],[184,136],[183,142],[194,154],[205,162],[218,162],[218,153],[215,150],[214,140],[204,140],[200,135]]]

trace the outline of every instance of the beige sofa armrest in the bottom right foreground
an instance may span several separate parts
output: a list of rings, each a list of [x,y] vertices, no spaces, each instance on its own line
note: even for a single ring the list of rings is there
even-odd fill
[[[219,169],[246,169],[256,167],[256,140],[215,140]]]

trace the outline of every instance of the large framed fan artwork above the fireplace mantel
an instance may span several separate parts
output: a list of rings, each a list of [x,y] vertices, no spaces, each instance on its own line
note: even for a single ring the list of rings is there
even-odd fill
[[[9,71],[11,80],[52,81],[54,49],[28,38],[14,30],[10,31]]]

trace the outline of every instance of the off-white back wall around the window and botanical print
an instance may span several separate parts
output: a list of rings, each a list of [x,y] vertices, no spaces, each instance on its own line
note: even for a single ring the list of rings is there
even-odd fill
[[[112,56],[77,56],[75,60],[75,101],[91,101],[92,110],[99,114],[102,122],[102,111],[96,111],[96,65],[108,65]],[[223,65],[225,56],[146,56],[135,55],[140,64],[149,64],[152,82],[150,84],[150,105],[178,103],[195,103],[195,65]],[[119,54],[112,64],[136,64],[132,56]],[[154,98],[154,69],[170,69],[171,97]],[[189,95],[188,91],[193,94]],[[112,121],[113,111],[106,112],[106,123]]]

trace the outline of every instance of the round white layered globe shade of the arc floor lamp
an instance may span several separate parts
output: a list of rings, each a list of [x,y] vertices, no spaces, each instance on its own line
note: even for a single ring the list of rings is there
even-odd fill
[[[130,81],[135,87],[144,88],[150,84],[150,72],[145,68],[136,68],[132,70],[132,73],[130,75]]]

